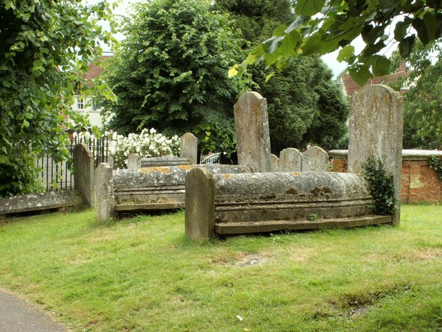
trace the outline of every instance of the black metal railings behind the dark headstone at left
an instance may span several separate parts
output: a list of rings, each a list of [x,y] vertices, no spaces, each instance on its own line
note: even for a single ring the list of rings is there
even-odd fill
[[[109,140],[107,137],[95,138],[95,136],[74,136],[70,139],[68,150],[73,160],[75,145],[84,143],[92,152],[95,168],[100,163],[107,163],[109,157]],[[47,192],[66,191],[74,189],[74,175],[70,172],[68,163],[55,163],[52,156],[46,155],[38,158],[35,165],[41,169],[38,178],[41,179]]]

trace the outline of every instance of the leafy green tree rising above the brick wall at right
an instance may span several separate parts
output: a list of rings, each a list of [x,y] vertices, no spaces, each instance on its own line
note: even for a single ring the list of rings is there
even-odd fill
[[[432,61],[431,58],[434,58]],[[396,67],[405,59],[399,52],[392,54]],[[442,46],[433,42],[414,48],[407,63],[412,69],[408,77],[400,77],[394,89],[410,86],[404,95],[404,147],[435,149],[442,147]]]

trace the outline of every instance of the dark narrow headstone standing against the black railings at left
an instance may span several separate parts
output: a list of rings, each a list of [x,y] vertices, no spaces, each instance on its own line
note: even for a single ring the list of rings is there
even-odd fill
[[[74,148],[74,188],[84,196],[86,204],[95,208],[95,176],[94,158],[88,146],[84,143]]]

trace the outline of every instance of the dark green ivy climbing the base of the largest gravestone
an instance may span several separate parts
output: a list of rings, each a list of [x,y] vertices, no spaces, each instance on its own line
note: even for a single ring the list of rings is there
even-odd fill
[[[393,175],[386,174],[383,163],[374,156],[367,158],[362,168],[362,175],[374,198],[374,212],[381,216],[392,215],[396,205]]]

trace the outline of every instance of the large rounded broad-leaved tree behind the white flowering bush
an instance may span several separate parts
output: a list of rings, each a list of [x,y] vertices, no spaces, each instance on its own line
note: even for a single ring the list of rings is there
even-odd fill
[[[202,151],[233,151],[233,104],[251,81],[227,77],[229,66],[244,56],[244,41],[227,14],[210,8],[208,0],[135,5],[108,71],[118,97],[117,105],[106,104],[115,113],[113,129],[154,127],[168,136],[190,131]]]

